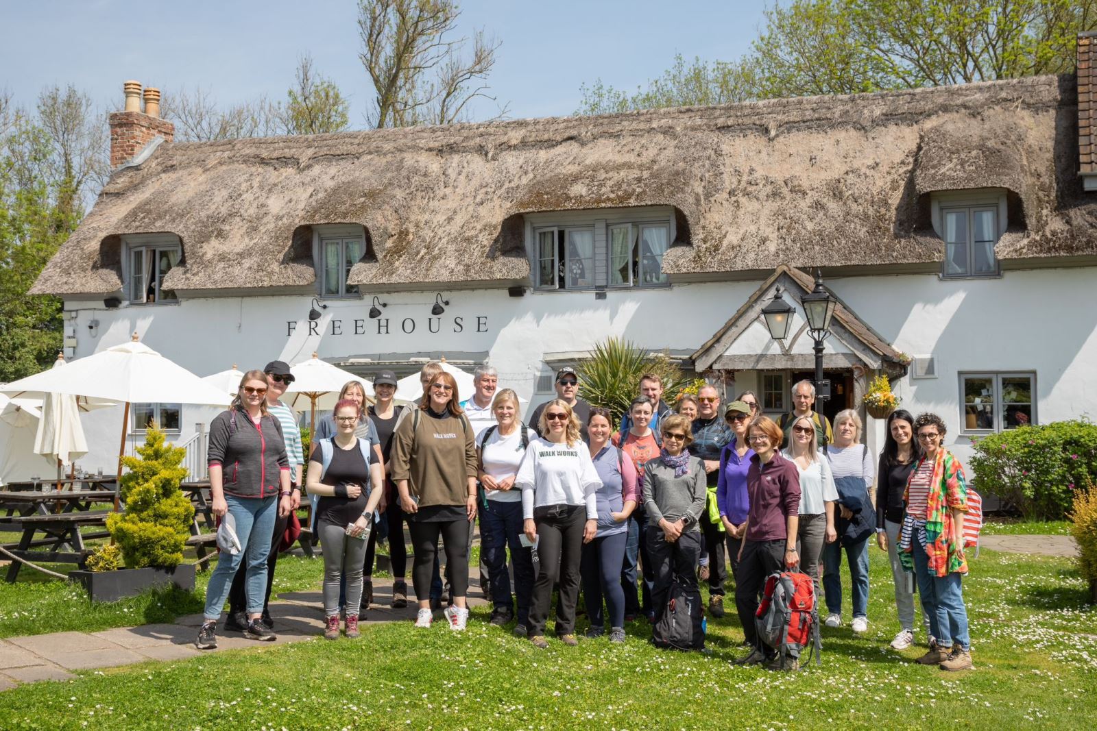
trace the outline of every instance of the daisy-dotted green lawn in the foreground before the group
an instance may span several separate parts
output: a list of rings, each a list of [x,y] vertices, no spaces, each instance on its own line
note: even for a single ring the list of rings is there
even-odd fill
[[[319,563],[302,563],[315,585]],[[731,616],[709,624],[713,652],[701,655],[656,650],[642,624],[623,647],[551,641],[539,651],[477,610],[464,635],[402,623],[367,627],[358,641],[257,647],[24,685],[0,695],[0,728],[1097,726],[1097,613],[1067,559],[984,550],[972,560],[964,586],[977,670],[961,674],[914,664],[920,648],[887,648],[897,629],[891,576],[874,548],[871,563],[870,631],[825,630],[823,665],[796,675],[732,666],[742,632]],[[280,562],[279,573],[284,580],[297,568]]]

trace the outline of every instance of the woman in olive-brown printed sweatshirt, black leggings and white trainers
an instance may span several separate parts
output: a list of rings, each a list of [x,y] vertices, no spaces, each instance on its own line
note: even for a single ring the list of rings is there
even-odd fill
[[[445,618],[454,630],[463,630],[468,621],[468,530],[476,518],[479,460],[473,429],[457,406],[460,398],[453,376],[439,373],[419,408],[400,422],[393,436],[392,479],[415,548],[416,627],[430,627],[430,581],[439,536],[453,601]]]

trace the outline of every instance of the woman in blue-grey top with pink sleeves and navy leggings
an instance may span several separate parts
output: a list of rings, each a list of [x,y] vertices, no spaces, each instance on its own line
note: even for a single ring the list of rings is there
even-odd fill
[[[606,633],[607,617],[602,597],[609,608],[610,642],[624,642],[624,587],[621,586],[621,562],[629,540],[629,516],[640,502],[636,467],[632,457],[613,446],[613,422],[609,409],[591,409],[587,420],[590,458],[595,462],[602,487],[598,499],[598,533],[583,546],[579,574],[583,578],[583,602],[587,606],[590,629],[587,637]]]

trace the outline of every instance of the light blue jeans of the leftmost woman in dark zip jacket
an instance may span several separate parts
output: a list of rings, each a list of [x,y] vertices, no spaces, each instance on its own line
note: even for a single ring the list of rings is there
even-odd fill
[[[233,587],[233,576],[241,561],[246,571],[246,612],[249,615],[262,613],[267,596],[267,556],[271,551],[271,534],[278,518],[276,495],[262,499],[225,495],[225,502],[228,503],[228,512],[236,519],[236,537],[240,539],[244,550],[236,556],[222,551],[217,559],[217,566],[210,574],[210,583],[206,585],[205,618],[208,620],[220,617],[220,609]]]

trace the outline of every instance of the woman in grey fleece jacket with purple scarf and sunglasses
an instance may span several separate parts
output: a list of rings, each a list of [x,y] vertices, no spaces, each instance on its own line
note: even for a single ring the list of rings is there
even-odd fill
[[[693,441],[690,422],[681,414],[659,424],[663,450],[644,466],[644,510],[647,511],[647,550],[655,567],[652,604],[655,621],[666,610],[667,594],[678,582],[697,589],[695,567],[701,556],[701,528],[706,488],[704,462],[686,447]]]

